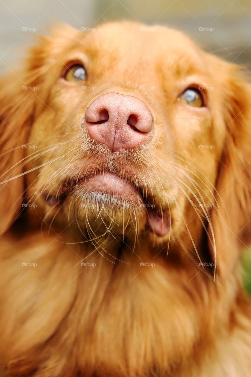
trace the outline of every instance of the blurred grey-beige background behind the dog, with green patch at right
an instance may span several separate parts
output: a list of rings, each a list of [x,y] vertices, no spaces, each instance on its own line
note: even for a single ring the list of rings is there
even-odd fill
[[[46,34],[55,20],[80,29],[121,19],[180,29],[208,52],[251,72],[251,0],[0,0],[0,14],[1,73],[25,54],[35,32]],[[251,248],[243,248],[251,293]]]

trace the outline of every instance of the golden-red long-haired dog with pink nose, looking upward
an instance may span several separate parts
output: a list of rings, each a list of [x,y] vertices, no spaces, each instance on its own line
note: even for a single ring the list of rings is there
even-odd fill
[[[36,39],[1,79],[2,375],[250,376],[245,69],[129,21]]]

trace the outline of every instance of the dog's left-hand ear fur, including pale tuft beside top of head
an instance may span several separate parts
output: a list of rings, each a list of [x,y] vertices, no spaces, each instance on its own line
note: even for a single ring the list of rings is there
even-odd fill
[[[0,79],[0,234],[12,224],[21,208],[24,146],[33,118],[46,106],[50,85],[45,81],[46,73],[60,60],[62,51],[76,42],[80,31],[60,24],[49,34],[36,35],[37,44],[29,49],[23,68]]]

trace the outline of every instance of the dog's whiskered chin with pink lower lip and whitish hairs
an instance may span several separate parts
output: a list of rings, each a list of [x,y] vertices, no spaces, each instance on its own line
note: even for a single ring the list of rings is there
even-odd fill
[[[109,234],[135,239],[147,231],[157,236],[170,231],[167,216],[163,220],[133,184],[110,173],[74,183],[63,207],[86,238]]]

